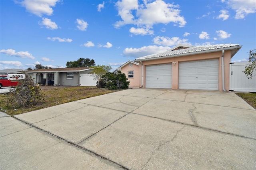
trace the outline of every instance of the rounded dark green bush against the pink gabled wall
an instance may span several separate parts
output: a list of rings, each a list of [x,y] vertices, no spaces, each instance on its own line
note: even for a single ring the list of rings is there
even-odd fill
[[[97,82],[97,87],[104,87],[109,90],[117,90],[117,89],[127,89],[129,87],[130,81],[127,81],[126,75],[121,73],[121,71],[117,72],[108,72],[102,75]]]

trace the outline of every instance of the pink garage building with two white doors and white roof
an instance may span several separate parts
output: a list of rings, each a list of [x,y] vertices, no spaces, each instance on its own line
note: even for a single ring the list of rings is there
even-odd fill
[[[136,58],[143,88],[230,90],[230,59],[242,46],[179,44],[169,51]],[[127,68],[124,67],[125,71]]]

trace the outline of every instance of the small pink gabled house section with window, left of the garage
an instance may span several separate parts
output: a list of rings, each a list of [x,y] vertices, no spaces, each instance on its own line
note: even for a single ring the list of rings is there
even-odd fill
[[[127,61],[120,67],[118,67],[117,70],[120,70],[122,73],[124,73],[130,81],[129,87],[140,87],[140,64],[136,63],[134,61]]]

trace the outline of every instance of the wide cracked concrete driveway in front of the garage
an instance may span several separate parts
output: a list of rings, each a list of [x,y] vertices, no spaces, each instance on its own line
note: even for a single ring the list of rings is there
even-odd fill
[[[230,92],[128,89],[0,128],[0,169],[256,169],[256,110]]]

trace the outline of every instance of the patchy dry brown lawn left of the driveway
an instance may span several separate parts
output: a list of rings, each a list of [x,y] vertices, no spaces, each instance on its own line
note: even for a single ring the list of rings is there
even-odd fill
[[[71,101],[77,101],[80,99],[86,99],[88,97],[94,97],[98,95],[104,95],[115,91],[97,88],[97,87],[69,87],[69,86],[41,86],[41,92],[44,95],[44,100],[40,101],[36,105],[20,109],[7,109],[4,107],[4,101],[6,96],[0,94],[0,109],[2,112],[8,115],[18,115],[46,107],[60,105]]]

